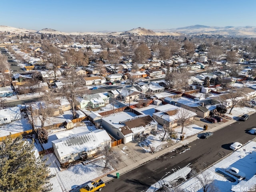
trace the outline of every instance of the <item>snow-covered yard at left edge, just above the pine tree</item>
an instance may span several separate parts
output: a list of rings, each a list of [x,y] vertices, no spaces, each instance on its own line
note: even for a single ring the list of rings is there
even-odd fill
[[[31,129],[32,129],[32,126],[28,122],[28,119],[20,119],[8,124],[1,125],[0,136],[2,137],[2,136],[9,135],[10,133],[15,134],[15,133],[24,132]]]

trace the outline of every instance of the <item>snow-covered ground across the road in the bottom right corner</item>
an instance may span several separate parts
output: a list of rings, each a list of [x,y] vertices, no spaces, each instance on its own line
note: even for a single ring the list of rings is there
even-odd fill
[[[244,145],[239,150],[233,152],[227,158],[224,158],[220,162],[216,163],[214,166],[208,168],[202,172],[202,174],[214,181],[213,185],[221,192],[228,192],[234,186],[236,186],[236,188],[244,188],[246,190],[250,188],[252,189],[254,186],[256,186],[255,160],[256,142],[252,141]],[[225,169],[229,166],[238,168],[240,171],[244,172],[246,174],[246,179],[239,182],[237,177],[232,176],[225,171]],[[224,176],[222,176],[223,174],[216,173],[217,171],[233,178],[235,182],[227,180]],[[187,182],[184,182],[179,188],[184,190],[184,192],[202,192],[202,186],[200,185],[199,180],[195,177],[188,180]],[[244,190],[238,191],[242,192]]]

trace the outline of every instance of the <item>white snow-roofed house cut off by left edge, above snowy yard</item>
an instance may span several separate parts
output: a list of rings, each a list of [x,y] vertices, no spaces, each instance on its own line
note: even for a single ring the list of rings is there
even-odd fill
[[[0,124],[10,123],[21,119],[20,108],[10,107],[0,110]]]

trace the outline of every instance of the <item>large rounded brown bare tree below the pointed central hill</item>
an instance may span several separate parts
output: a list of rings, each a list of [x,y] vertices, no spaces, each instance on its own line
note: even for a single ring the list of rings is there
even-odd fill
[[[142,42],[138,48],[135,49],[134,54],[135,63],[144,63],[144,61],[150,57],[150,49],[144,42]]]

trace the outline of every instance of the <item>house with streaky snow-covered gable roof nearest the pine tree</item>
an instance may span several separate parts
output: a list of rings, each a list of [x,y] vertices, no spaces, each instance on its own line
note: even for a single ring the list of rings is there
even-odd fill
[[[69,134],[63,138],[52,141],[54,154],[59,162],[72,162],[79,160],[80,155],[92,155],[100,150],[102,146],[111,147],[111,138],[105,130],[98,129],[92,132]]]

